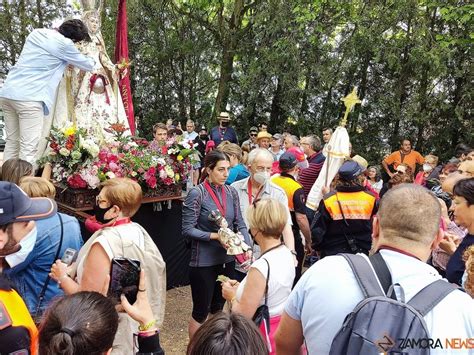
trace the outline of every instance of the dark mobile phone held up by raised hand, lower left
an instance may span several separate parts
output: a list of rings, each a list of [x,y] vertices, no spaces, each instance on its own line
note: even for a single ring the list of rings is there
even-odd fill
[[[129,258],[113,258],[110,268],[110,284],[107,296],[114,303],[120,303],[124,294],[130,304],[137,300],[140,281],[140,261]]]

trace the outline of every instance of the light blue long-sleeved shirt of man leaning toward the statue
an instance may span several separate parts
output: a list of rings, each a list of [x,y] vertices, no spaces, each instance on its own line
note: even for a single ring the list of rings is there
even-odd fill
[[[8,73],[0,97],[17,101],[40,101],[48,115],[56,90],[68,64],[92,71],[94,59],[81,54],[74,43],[58,31],[36,29],[26,38],[17,63]]]

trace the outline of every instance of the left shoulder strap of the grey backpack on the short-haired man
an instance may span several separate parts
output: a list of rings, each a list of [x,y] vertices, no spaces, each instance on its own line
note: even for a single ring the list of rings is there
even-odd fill
[[[347,263],[354,272],[354,276],[359,287],[364,294],[364,298],[385,296],[384,291],[380,288],[377,276],[370,267],[369,263],[362,255],[354,254],[338,254],[346,259]]]

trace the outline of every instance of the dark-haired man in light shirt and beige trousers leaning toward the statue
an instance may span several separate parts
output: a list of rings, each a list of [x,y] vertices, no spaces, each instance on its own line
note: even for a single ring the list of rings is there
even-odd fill
[[[75,42],[90,40],[81,20],[65,21],[59,30],[33,30],[0,90],[5,113],[4,160],[20,158],[35,163],[44,116],[49,115],[67,65],[94,69],[94,59],[81,54]]]

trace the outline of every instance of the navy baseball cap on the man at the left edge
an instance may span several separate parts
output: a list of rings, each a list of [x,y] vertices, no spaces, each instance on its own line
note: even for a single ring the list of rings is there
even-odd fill
[[[36,221],[53,216],[56,202],[46,197],[29,197],[11,182],[0,181],[0,225]]]

